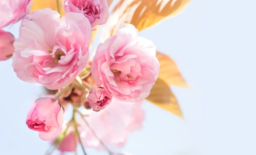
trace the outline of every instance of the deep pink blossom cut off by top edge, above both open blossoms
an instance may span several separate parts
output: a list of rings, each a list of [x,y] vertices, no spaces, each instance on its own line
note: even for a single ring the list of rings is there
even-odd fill
[[[64,0],[63,8],[65,12],[84,14],[92,27],[108,20],[108,0]]]

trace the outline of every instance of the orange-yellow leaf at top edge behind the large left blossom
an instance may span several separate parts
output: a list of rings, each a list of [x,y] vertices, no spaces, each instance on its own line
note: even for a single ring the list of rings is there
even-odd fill
[[[51,8],[52,10],[58,11],[61,14],[61,17],[65,14],[62,7],[62,0],[32,0],[32,8],[30,9],[30,12],[42,8]]]

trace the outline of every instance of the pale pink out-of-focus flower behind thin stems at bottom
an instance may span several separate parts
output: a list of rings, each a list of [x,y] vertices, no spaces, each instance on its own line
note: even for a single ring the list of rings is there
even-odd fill
[[[144,120],[142,102],[128,103],[112,99],[106,109],[92,112],[87,119],[96,135],[110,148],[123,147],[128,134],[140,130]],[[84,147],[104,149],[86,124],[79,128]]]

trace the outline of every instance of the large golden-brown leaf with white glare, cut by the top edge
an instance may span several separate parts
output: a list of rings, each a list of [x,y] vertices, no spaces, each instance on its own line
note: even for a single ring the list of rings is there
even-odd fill
[[[102,41],[116,33],[122,20],[139,31],[180,13],[191,0],[119,0],[103,27]]]

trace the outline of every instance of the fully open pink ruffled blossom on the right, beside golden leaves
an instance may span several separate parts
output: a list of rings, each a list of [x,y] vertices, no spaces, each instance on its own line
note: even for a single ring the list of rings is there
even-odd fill
[[[139,37],[133,25],[121,25],[98,46],[91,66],[93,79],[120,101],[143,101],[158,77],[160,65],[155,54],[153,42]]]

